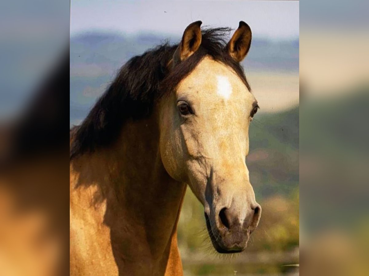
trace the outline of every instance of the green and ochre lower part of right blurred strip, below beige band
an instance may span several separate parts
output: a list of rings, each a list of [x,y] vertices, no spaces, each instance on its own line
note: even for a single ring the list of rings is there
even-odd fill
[[[301,104],[301,259],[305,275],[369,275],[369,85]]]

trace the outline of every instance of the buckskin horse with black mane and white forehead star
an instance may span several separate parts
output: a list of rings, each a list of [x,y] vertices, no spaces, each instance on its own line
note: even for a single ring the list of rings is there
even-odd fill
[[[189,185],[220,253],[245,249],[261,206],[245,160],[259,106],[240,62],[244,21],[187,26],[132,57],[70,131],[70,275],[182,275],[177,223]]]

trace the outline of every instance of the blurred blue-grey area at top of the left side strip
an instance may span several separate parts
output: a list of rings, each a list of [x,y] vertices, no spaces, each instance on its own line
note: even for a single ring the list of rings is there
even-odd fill
[[[69,4],[1,1],[0,119],[17,117],[69,45]]]

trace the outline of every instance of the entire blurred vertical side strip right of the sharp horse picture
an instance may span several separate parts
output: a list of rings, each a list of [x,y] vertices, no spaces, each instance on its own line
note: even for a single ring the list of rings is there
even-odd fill
[[[300,262],[369,275],[369,3],[300,4]]]

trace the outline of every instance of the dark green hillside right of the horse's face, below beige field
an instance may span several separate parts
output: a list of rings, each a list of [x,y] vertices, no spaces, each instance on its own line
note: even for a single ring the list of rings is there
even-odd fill
[[[256,114],[246,164],[256,197],[288,195],[299,187],[299,107]]]

